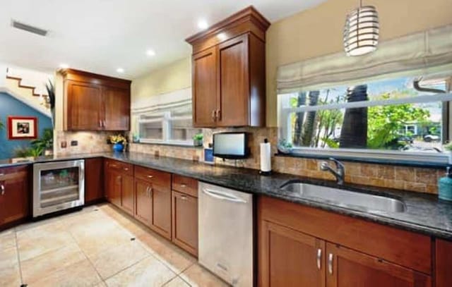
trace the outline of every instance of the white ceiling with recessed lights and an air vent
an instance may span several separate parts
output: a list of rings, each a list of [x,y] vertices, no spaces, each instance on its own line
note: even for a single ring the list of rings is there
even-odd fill
[[[191,54],[184,39],[199,32],[200,18],[213,24],[252,4],[273,22],[323,1],[2,0],[0,61],[47,72],[67,63],[133,79]],[[14,29],[11,19],[50,32]],[[147,56],[147,49],[156,55]]]

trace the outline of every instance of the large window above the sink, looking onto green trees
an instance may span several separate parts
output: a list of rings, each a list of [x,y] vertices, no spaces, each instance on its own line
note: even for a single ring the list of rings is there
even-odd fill
[[[280,94],[279,138],[301,153],[441,161],[451,78],[424,78]]]

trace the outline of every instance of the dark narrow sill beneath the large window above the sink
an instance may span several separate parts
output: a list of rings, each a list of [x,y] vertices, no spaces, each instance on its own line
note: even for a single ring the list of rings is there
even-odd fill
[[[307,154],[302,152],[283,154],[278,152],[275,157],[298,157],[303,159],[329,159],[331,156],[326,154]],[[428,169],[445,169],[449,166],[447,163],[441,162],[428,162],[428,161],[412,161],[412,160],[400,160],[400,159],[369,159],[364,157],[345,157],[340,155],[333,156],[340,161],[359,162],[364,164],[383,164],[392,166],[412,166],[423,167]]]

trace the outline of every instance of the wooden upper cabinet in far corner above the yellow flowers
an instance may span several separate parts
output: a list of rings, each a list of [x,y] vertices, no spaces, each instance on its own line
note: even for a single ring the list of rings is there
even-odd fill
[[[66,69],[65,130],[129,130],[129,80]]]

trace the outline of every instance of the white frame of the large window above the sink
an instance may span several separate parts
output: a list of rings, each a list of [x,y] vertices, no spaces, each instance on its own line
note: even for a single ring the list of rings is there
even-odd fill
[[[437,97],[446,98],[446,97],[452,97],[452,77],[446,78],[446,94],[436,94]],[[432,97],[433,95],[429,96],[417,96],[419,98],[423,99],[425,97]],[[374,101],[379,102],[379,101]],[[381,101],[383,102],[383,101]],[[395,102],[398,104],[404,104],[407,102],[410,102],[410,99],[405,101],[388,101],[388,102]],[[436,102],[436,101],[429,101],[429,102]],[[442,108],[442,143],[446,143],[449,140],[449,135],[451,134],[451,116],[450,116],[450,110],[452,105],[452,100],[448,99],[447,101],[438,101],[443,103]],[[357,102],[354,103],[348,103],[347,106],[355,107]],[[332,104],[331,106],[334,106],[335,104]],[[359,104],[358,104],[359,105]],[[292,127],[290,122],[290,114],[293,112],[300,112],[300,111],[311,111],[313,108],[312,106],[309,106],[307,108],[300,108],[300,107],[287,107],[286,103],[283,102],[283,97],[281,97],[280,94],[278,94],[278,142],[280,139],[285,139],[287,142],[292,142]],[[328,105],[326,105],[328,106]],[[326,109],[318,109],[314,108],[315,110],[326,110]],[[445,125],[444,123],[447,123]],[[362,158],[362,159],[376,159],[376,160],[400,160],[400,161],[415,161],[415,162],[429,162],[429,163],[438,163],[438,164],[446,164],[448,163],[448,152],[400,152],[400,151],[391,151],[391,150],[384,150],[384,149],[349,149],[349,148],[342,148],[342,149],[333,149],[333,148],[318,148],[318,147],[293,147],[292,148],[292,154],[297,156],[319,156],[319,157],[353,157],[353,158]]]

